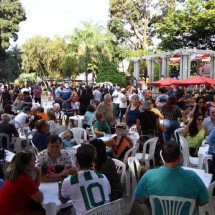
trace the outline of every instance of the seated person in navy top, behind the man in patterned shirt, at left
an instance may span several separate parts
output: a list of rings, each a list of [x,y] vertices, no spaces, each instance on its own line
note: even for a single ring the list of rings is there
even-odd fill
[[[49,134],[49,124],[40,119],[36,121],[36,132],[32,138],[32,143],[37,147],[38,151],[42,151],[47,148],[47,138]]]

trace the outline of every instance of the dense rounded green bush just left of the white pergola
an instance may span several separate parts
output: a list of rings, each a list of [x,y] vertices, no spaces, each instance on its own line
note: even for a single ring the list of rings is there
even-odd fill
[[[114,64],[106,64],[99,68],[96,82],[112,82],[113,84],[125,85],[126,75],[119,72]]]

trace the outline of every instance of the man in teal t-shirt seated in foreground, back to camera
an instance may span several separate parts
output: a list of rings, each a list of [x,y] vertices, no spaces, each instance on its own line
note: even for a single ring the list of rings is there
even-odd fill
[[[201,178],[191,170],[179,166],[180,146],[174,141],[167,142],[162,149],[164,166],[148,170],[135,190],[137,202],[146,203],[150,195],[178,196],[196,200],[197,206],[209,201],[208,191]],[[156,211],[160,211],[156,205]],[[181,214],[188,214],[187,206]]]

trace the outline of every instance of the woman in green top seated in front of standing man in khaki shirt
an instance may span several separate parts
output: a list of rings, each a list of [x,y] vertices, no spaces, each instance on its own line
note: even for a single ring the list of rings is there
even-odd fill
[[[111,134],[111,127],[105,120],[103,113],[96,113],[96,121],[93,124],[93,130],[97,137],[103,137],[105,134]]]

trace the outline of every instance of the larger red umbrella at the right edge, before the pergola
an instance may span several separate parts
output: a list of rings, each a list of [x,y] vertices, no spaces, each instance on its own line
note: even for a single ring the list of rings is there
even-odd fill
[[[207,78],[204,76],[194,76],[188,79],[182,80],[181,84],[183,85],[199,85],[199,84],[206,84],[206,85],[215,85],[214,78]]]

